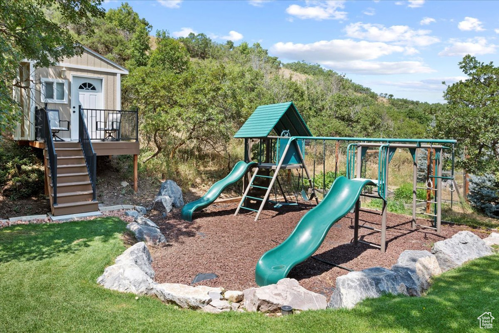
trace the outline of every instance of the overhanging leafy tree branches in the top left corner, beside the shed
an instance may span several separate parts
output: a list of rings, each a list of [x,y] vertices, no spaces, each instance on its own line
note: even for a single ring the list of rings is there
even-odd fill
[[[17,77],[19,62],[33,61],[48,67],[64,57],[81,54],[67,27],[78,21],[92,32],[92,17],[101,17],[102,0],[0,0],[0,134],[12,130],[20,108],[12,98],[12,86],[29,87]],[[45,15],[55,8],[60,24]]]

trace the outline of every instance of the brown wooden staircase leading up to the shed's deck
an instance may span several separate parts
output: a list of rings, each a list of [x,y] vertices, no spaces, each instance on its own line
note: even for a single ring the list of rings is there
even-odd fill
[[[79,142],[54,142],[57,154],[57,204],[53,204],[50,163],[45,149],[45,177],[52,215],[86,213],[99,210],[92,201],[93,190]]]

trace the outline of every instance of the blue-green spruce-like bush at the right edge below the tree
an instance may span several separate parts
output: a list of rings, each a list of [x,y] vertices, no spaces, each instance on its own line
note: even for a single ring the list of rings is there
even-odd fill
[[[499,217],[499,181],[493,174],[470,176],[468,199],[477,211]]]

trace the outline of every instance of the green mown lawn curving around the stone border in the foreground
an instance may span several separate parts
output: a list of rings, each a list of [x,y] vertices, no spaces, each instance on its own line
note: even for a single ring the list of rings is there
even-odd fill
[[[443,274],[426,297],[386,296],[350,311],[268,318],[135,300],[95,282],[125,249],[124,230],[117,218],[0,230],[0,332],[478,332],[482,313],[499,318],[497,254]]]

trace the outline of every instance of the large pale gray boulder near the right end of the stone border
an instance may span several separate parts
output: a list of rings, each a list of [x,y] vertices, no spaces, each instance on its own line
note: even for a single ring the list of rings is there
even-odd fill
[[[443,272],[461,266],[465,262],[493,253],[492,248],[471,231],[460,231],[451,238],[433,245],[432,253],[437,257]]]

